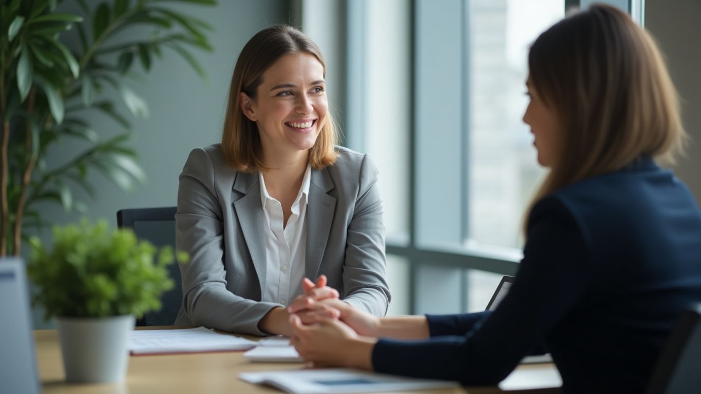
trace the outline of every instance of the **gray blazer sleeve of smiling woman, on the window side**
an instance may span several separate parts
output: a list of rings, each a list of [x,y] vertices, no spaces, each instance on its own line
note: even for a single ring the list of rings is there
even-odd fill
[[[377,178],[375,163],[365,155],[346,238],[343,300],[375,316],[384,316],[391,295],[386,279],[385,226]]]

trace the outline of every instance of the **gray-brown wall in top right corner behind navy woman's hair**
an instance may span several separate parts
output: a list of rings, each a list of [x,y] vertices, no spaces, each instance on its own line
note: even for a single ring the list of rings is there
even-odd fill
[[[645,8],[645,26],[667,58],[691,137],[675,171],[701,204],[701,1],[646,0]]]

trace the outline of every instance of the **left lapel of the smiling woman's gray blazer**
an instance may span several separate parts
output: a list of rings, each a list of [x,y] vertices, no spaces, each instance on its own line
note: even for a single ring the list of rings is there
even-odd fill
[[[258,275],[261,294],[265,289],[266,253],[263,225],[265,216],[261,206],[261,188],[258,174],[238,173],[233,183],[233,190],[244,196],[233,202],[233,209],[238,216],[238,222],[246,240],[248,252]]]

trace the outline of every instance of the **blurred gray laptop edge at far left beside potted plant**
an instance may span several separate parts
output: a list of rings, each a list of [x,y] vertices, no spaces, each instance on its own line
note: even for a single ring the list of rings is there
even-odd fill
[[[3,393],[39,394],[25,265],[0,259],[0,382]]]

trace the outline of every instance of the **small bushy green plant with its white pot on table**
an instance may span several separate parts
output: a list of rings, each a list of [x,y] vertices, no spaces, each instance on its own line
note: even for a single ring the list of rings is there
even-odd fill
[[[123,379],[135,316],[159,309],[161,293],[173,286],[165,267],[174,260],[172,248],[158,251],[129,229],[87,219],[54,227],[50,249],[36,237],[29,245],[32,302],[43,305],[47,319],[57,318],[67,381]],[[186,253],[177,257],[187,260]]]

